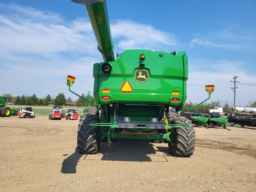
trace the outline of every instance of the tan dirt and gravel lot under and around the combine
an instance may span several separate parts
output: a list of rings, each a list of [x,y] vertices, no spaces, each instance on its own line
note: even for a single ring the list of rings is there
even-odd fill
[[[0,117],[1,192],[254,192],[256,128],[196,127],[190,158],[168,144],[101,142],[100,153],[76,152],[78,120]]]

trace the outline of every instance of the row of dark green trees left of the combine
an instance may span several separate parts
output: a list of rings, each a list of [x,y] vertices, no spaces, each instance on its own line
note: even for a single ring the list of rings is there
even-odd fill
[[[36,94],[33,94],[32,96],[12,96],[11,94],[5,93],[3,96],[8,97],[8,99],[6,99],[6,104],[10,103],[15,105],[48,106],[49,102],[54,102],[55,105],[59,106],[66,106],[67,103],[76,103],[77,107],[84,107],[85,104],[85,100],[82,98],[79,97],[78,100],[72,101],[70,97],[66,99],[66,96],[64,96],[63,93],[59,93],[56,98],[52,98],[50,95],[48,95],[42,99],[37,98]],[[81,96],[85,98],[84,93]],[[93,98],[92,103],[94,103]]]

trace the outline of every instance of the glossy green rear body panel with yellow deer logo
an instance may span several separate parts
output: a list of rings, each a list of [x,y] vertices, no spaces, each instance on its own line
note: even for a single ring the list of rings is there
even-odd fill
[[[101,71],[104,63],[94,64],[96,102],[183,105],[187,98],[188,61],[185,52],[181,53],[127,50],[116,61],[109,62],[112,66],[109,74]],[[145,55],[144,67],[140,67],[141,54]],[[139,72],[142,73],[139,75]],[[110,96],[111,100],[103,101],[102,96]],[[172,102],[174,97],[180,102]]]

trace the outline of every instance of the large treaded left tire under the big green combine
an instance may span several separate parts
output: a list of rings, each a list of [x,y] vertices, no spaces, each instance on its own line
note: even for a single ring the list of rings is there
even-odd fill
[[[98,110],[96,107],[88,109],[86,116],[80,117],[77,131],[77,149],[81,153],[96,154],[100,148],[98,137],[98,127],[90,126],[99,122]]]

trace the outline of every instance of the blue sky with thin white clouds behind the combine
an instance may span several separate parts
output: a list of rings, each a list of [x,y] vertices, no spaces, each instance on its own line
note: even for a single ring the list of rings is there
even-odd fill
[[[130,48],[188,55],[188,99],[236,106],[256,101],[255,0],[107,0],[116,53]],[[71,0],[0,0],[0,95],[66,99],[93,91],[92,65],[102,62],[83,5]]]

